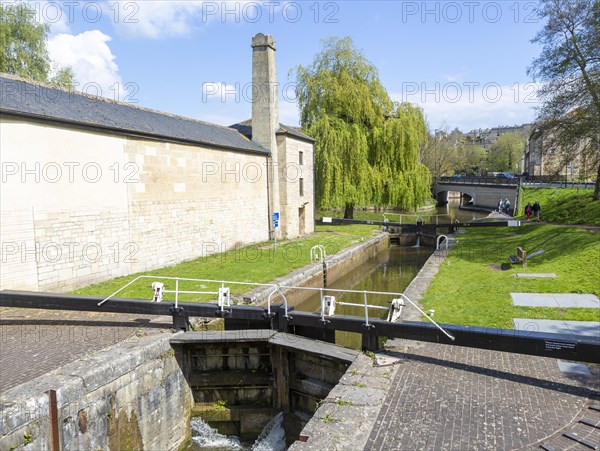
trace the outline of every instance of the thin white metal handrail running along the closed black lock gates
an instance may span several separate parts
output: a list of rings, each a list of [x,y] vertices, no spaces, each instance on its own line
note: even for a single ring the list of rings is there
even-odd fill
[[[175,290],[165,290],[165,293],[175,293],[176,307],[177,307],[177,302],[178,302],[180,293],[181,294],[218,294],[218,292],[214,292],[214,291],[188,291],[188,290],[182,291],[182,290],[179,290],[179,281],[220,283],[222,287],[224,287],[225,284],[249,285],[249,286],[255,286],[255,287],[271,287],[273,290],[269,293],[269,295],[267,297],[267,314],[269,316],[271,315],[271,300],[272,300],[273,296],[275,296],[276,294],[279,294],[283,298],[284,316],[286,318],[289,318],[288,302],[287,302],[287,298],[285,297],[285,294],[283,293],[283,290],[318,291],[321,296],[321,319],[322,320],[325,319],[325,302],[323,301],[323,292],[327,291],[327,292],[333,292],[333,293],[359,293],[359,294],[363,295],[364,303],[356,304],[356,303],[349,303],[349,302],[339,302],[339,304],[364,307],[364,309],[365,309],[365,316],[364,316],[365,317],[365,325],[367,327],[369,327],[369,309],[370,308],[389,310],[389,307],[384,307],[384,306],[380,306],[380,305],[369,305],[368,301],[367,301],[367,295],[385,295],[385,296],[392,296],[394,298],[401,297],[402,299],[404,299],[405,301],[410,303],[413,307],[415,307],[425,318],[427,318],[428,321],[430,321],[433,325],[435,325],[435,327],[437,327],[440,331],[442,331],[442,333],[444,335],[446,335],[448,338],[450,338],[452,341],[454,341],[454,337],[450,333],[448,333],[446,330],[444,330],[444,328],[442,326],[440,326],[436,321],[434,321],[430,315],[425,313],[417,304],[415,304],[413,301],[411,301],[404,293],[390,292],[390,291],[344,290],[344,289],[340,289],[340,288],[297,287],[297,286],[287,286],[287,285],[279,285],[279,284],[273,284],[273,283],[237,282],[237,281],[229,281],[229,280],[193,279],[193,278],[187,278],[187,277],[145,275],[145,276],[138,276],[135,279],[133,279],[131,282],[125,284],[123,287],[119,288],[117,291],[112,293],[110,296],[107,296],[102,301],[100,301],[98,303],[98,306],[101,306],[105,302],[109,301],[114,296],[116,296],[121,291],[123,291],[125,288],[129,287],[134,282],[136,282],[140,279],[174,280],[175,281]],[[222,306],[221,306],[221,310],[222,310]]]

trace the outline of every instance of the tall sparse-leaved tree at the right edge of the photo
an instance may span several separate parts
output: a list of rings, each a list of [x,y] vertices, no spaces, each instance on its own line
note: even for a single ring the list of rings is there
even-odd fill
[[[600,199],[600,0],[541,0],[545,25],[532,42],[542,45],[528,74],[541,81],[538,121],[551,146],[595,167]]]

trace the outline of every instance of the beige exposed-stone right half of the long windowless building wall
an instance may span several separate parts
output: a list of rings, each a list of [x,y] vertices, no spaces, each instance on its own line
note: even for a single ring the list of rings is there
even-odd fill
[[[147,271],[268,240],[266,158],[128,140],[139,169],[128,186],[130,237]]]

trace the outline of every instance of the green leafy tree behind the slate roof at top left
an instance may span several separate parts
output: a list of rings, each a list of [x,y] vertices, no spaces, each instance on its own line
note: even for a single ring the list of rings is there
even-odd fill
[[[73,88],[73,71],[59,68],[51,76],[52,61],[46,39],[49,26],[35,21],[35,11],[25,3],[0,3],[0,72]]]

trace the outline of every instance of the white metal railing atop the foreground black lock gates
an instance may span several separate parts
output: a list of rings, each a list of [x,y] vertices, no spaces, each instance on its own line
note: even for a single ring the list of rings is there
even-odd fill
[[[175,308],[177,308],[180,294],[217,295],[218,296],[217,304],[219,306],[220,312],[223,312],[226,306],[229,307],[231,305],[229,287],[226,287],[225,285],[268,287],[268,288],[271,288],[272,290],[269,292],[269,295],[267,296],[267,314],[269,316],[271,315],[271,301],[273,299],[273,296],[275,296],[276,294],[279,294],[281,296],[281,298],[283,299],[284,316],[286,318],[289,317],[288,301],[287,301],[287,298],[285,297],[285,294],[283,293],[283,290],[299,290],[299,291],[319,292],[320,299],[321,299],[321,308],[320,308],[321,320],[326,321],[325,320],[326,316],[333,315],[333,313],[335,311],[335,304],[353,306],[353,307],[363,307],[364,308],[365,325],[367,327],[370,325],[369,324],[369,309],[379,309],[379,310],[388,310],[389,311],[390,308],[392,307],[392,303],[393,303],[393,302],[390,303],[390,307],[386,307],[386,306],[382,306],[382,305],[370,305],[368,303],[368,296],[369,295],[391,296],[394,299],[401,299],[403,301],[408,302],[410,305],[412,305],[414,308],[416,308],[425,318],[427,318],[428,321],[430,321],[440,331],[442,331],[444,333],[444,335],[446,335],[448,338],[450,338],[452,341],[454,341],[454,337],[452,335],[450,335],[446,330],[444,330],[444,328],[442,328],[437,322],[435,322],[431,318],[431,315],[428,315],[427,313],[425,313],[417,304],[415,304],[408,297],[406,297],[404,295],[404,293],[388,292],[388,291],[343,290],[343,289],[335,289],[335,288],[296,287],[296,286],[279,285],[279,284],[273,284],[273,283],[235,282],[235,281],[229,281],[229,280],[192,279],[192,278],[187,278],[187,277],[169,277],[169,276],[147,275],[147,276],[136,277],[131,282],[125,284],[123,287],[119,288],[117,291],[112,293],[110,296],[107,296],[102,301],[100,301],[98,303],[98,306],[101,306],[105,302],[114,298],[117,294],[122,292],[125,288],[133,285],[135,282],[137,282],[138,280],[141,280],[141,279],[172,280],[175,282],[175,290],[167,290],[162,283],[154,282],[152,284],[152,289],[155,290],[155,296],[153,298],[153,301],[155,301],[155,302],[160,302],[162,300],[162,293],[174,293],[175,294]],[[201,283],[220,284],[221,287],[218,289],[218,291],[180,290],[179,282],[201,282]],[[160,299],[157,299],[156,287],[158,287],[159,285],[163,285],[163,286],[162,286],[162,288],[160,288],[161,289],[161,296],[159,296]],[[363,298],[363,302],[360,304],[353,303],[353,302],[335,302],[335,298],[327,300],[326,299],[327,296],[325,295],[325,293],[361,294],[362,298]],[[333,296],[330,296],[330,298],[332,298],[332,297]],[[328,303],[327,301],[330,301],[330,302]]]

